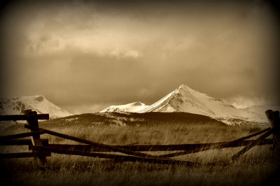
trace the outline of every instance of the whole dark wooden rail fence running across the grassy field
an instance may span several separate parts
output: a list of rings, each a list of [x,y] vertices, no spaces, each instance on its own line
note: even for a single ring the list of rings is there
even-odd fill
[[[218,143],[193,143],[180,145],[106,145],[103,143],[96,143],[88,141],[83,138],[61,134],[48,129],[42,129],[38,126],[38,120],[48,120],[48,114],[37,114],[36,111],[25,110],[25,115],[0,115],[0,120],[27,120],[25,127],[30,129],[29,132],[22,134],[13,134],[8,136],[0,136],[0,145],[29,145],[31,152],[8,153],[1,154],[0,158],[20,158],[20,157],[34,157],[34,161],[41,166],[45,166],[46,157],[50,157],[51,153],[63,155],[80,155],[87,157],[98,157],[105,159],[114,159],[115,161],[130,161],[130,162],[148,162],[158,164],[185,164],[188,166],[201,165],[198,162],[188,162],[171,159],[179,155],[187,155],[190,153],[201,152],[211,149],[221,148],[244,148],[232,156],[235,161],[238,157],[253,148],[255,145],[279,145],[280,143],[280,124],[279,111],[267,110],[265,112],[271,127],[262,129],[248,136],[238,138],[234,141],[224,141]],[[41,134],[50,134],[60,138],[69,139],[85,145],[66,145],[66,144],[50,144],[48,139],[41,139]],[[267,138],[272,135],[273,138]],[[260,135],[260,136],[258,136]],[[255,140],[249,140],[253,136],[258,136]],[[18,139],[31,137],[31,139]],[[146,152],[164,151],[164,155],[151,155]],[[172,152],[180,151],[180,152]],[[107,152],[107,153],[104,153]],[[123,155],[117,155],[112,152],[121,152]],[[208,163],[209,165],[213,165]]]

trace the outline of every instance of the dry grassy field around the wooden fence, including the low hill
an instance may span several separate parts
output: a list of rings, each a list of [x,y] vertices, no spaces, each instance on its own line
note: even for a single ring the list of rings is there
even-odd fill
[[[231,127],[207,118],[201,120],[196,115],[188,115],[188,120],[186,115],[175,116],[169,115],[168,118],[173,119],[168,120],[159,115],[106,115],[103,119],[100,115],[79,115],[41,122],[39,125],[109,145],[230,141],[260,130],[260,127],[254,126]],[[3,129],[1,135],[23,131],[28,130],[18,124]],[[41,138],[49,138],[49,143],[78,144],[47,134],[41,135]],[[19,150],[28,149],[23,146],[1,146],[1,153]],[[208,150],[173,158],[227,164],[224,166],[113,162],[52,154],[47,157],[49,168],[41,171],[34,166],[32,158],[1,159],[1,180],[5,180],[7,185],[273,185],[272,180],[276,178],[280,165],[279,151],[272,149],[272,145],[257,146],[236,162],[231,162],[230,157],[239,150],[241,148]]]

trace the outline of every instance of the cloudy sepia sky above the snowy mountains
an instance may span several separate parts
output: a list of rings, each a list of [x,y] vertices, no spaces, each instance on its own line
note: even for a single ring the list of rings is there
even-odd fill
[[[70,113],[150,105],[181,84],[239,108],[280,106],[272,1],[8,1],[1,96]]]

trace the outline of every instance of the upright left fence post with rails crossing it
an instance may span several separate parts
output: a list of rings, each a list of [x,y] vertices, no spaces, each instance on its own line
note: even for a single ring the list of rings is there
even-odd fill
[[[28,115],[28,119],[27,119],[27,124],[34,126],[34,127],[38,127],[38,118],[37,118],[37,112],[36,111],[32,111],[31,109],[29,110],[25,110],[25,115]],[[30,129],[31,131],[36,131],[34,129]],[[36,145],[36,146],[43,146],[42,145],[42,141],[40,138],[40,134],[36,134],[34,136],[31,137],[31,141],[32,141],[32,145]],[[38,151],[35,151],[38,152]],[[38,163],[38,159],[40,166],[45,166],[47,159],[46,157],[43,156],[37,156],[34,157],[34,162],[37,164]]]

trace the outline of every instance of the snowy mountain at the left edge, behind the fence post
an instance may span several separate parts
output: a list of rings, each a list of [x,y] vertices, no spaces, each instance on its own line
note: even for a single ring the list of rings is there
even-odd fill
[[[0,99],[0,115],[20,115],[27,109],[34,110],[38,114],[48,113],[50,119],[72,115],[48,101],[45,96],[15,96]]]

